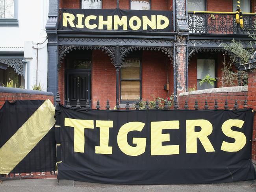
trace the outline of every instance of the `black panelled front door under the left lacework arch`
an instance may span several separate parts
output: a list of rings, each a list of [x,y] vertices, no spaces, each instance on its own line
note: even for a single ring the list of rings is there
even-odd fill
[[[90,100],[89,74],[68,74],[67,81],[67,98],[69,98],[70,105],[76,106],[77,99],[79,99],[80,105],[85,106],[87,99]]]

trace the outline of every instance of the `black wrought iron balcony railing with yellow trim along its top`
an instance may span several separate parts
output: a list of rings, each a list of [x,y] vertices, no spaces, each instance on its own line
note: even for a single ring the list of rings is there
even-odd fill
[[[190,33],[239,34],[256,31],[256,13],[243,13],[244,28],[236,23],[236,13],[189,11],[188,26]]]

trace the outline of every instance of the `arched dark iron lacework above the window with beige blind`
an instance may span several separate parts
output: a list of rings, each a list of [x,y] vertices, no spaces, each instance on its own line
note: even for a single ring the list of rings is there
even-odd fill
[[[172,47],[150,47],[150,46],[120,46],[120,64],[124,61],[127,54],[136,50],[145,50],[145,51],[160,51],[165,53],[167,57],[173,59],[173,48]]]

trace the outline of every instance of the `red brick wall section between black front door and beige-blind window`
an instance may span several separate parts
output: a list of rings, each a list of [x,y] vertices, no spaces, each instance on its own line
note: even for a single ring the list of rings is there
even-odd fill
[[[100,100],[101,109],[105,109],[109,99],[111,109],[116,104],[116,72],[109,56],[101,50],[93,51],[92,55],[92,108],[95,109]]]

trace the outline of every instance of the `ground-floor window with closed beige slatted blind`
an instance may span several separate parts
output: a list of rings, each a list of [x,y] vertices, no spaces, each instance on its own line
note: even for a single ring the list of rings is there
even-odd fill
[[[141,98],[141,59],[126,59],[121,68],[121,100]]]

